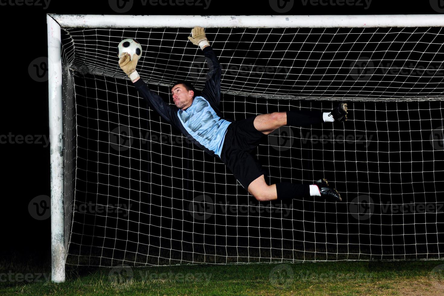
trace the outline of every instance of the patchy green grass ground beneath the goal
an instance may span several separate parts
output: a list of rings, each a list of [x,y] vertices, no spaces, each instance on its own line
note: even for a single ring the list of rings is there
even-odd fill
[[[0,295],[444,295],[444,260],[49,269],[1,263]]]

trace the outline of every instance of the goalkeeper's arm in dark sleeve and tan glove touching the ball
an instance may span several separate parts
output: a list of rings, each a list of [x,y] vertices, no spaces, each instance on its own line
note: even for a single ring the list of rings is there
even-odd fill
[[[154,110],[159,113],[163,119],[171,124],[171,118],[174,116],[174,111],[171,109],[170,105],[165,103],[165,101],[163,101],[163,99],[154,91],[151,91],[143,80],[140,79],[140,76],[136,71],[136,65],[136,55],[134,55],[133,59],[131,59],[130,55],[125,53],[125,55],[123,55],[119,60],[120,68],[128,75],[132,83],[134,83],[135,88],[142,95],[143,99],[145,99],[147,105],[154,108]]]

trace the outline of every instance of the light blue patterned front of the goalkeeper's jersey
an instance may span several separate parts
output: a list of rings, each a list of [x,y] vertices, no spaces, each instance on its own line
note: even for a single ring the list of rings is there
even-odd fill
[[[186,110],[178,110],[177,115],[183,127],[195,140],[221,157],[226,129],[231,122],[220,118],[210,103],[201,96],[195,97]]]

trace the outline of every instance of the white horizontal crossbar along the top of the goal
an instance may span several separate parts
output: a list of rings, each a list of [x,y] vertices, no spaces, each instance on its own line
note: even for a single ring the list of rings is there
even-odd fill
[[[376,28],[442,27],[439,14],[337,16],[128,16],[48,14],[61,28]]]

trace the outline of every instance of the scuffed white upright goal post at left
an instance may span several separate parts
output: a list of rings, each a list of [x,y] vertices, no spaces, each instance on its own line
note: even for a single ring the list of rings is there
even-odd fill
[[[66,250],[63,230],[63,103],[62,42],[59,24],[49,15],[48,26],[48,99],[51,154],[51,261],[52,281],[65,281]]]

